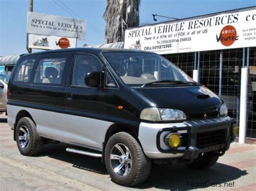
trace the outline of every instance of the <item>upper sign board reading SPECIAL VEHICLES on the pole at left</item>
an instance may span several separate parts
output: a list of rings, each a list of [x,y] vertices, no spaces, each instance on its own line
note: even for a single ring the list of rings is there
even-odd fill
[[[86,20],[28,12],[27,33],[85,40]]]

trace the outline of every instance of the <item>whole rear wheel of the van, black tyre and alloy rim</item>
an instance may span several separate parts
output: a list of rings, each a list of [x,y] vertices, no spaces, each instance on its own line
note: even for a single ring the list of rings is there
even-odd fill
[[[19,152],[32,156],[43,148],[43,138],[36,131],[35,123],[28,117],[21,118],[16,127],[16,142]]]

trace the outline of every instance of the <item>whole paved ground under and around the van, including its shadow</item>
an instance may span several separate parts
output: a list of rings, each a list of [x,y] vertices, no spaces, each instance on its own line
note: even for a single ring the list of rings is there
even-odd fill
[[[0,114],[1,190],[255,190],[256,145],[233,143],[218,163],[203,171],[184,165],[152,167],[135,188],[111,182],[100,159],[68,153],[64,144],[45,145],[41,155],[19,154],[4,114]]]

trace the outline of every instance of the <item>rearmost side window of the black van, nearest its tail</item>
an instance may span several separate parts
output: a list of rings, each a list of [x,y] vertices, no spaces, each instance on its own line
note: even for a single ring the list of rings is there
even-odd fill
[[[14,81],[29,82],[36,57],[25,57],[16,70]]]

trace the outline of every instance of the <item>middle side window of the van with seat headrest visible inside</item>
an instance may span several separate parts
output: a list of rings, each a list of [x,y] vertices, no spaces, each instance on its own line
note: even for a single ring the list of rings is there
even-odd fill
[[[67,54],[52,53],[48,56],[41,56],[38,59],[33,82],[39,84],[61,84],[64,67],[69,62]]]

